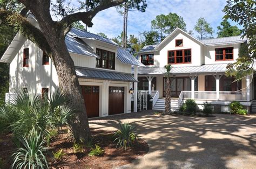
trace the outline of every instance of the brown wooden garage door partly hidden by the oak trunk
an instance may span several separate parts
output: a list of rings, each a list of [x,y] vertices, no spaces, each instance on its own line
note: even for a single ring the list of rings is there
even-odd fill
[[[99,117],[99,86],[81,86],[87,116]]]

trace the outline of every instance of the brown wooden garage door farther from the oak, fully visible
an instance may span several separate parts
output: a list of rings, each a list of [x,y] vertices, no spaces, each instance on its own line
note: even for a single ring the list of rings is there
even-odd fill
[[[124,87],[109,87],[109,115],[124,113]]]

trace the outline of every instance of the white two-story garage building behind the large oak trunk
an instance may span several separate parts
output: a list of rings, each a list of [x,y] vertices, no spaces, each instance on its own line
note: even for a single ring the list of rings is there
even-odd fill
[[[37,22],[32,15],[28,20]],[[71,29],[65,38],[74,61],[88,117],[131,112],[132,65],[144,66],[111,39]],[[6,102],[17,90],[50,94],[59,87],[52,60],[37,45],[18,33],[3,54],[1,62],[10,64],[10,89]]]

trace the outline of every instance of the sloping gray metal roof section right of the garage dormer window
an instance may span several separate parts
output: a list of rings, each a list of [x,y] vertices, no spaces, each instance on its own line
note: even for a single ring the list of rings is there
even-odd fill
[[[125,64],[145,67],[142,62],[139,62],[133,55],[120,47],[117,48],[117,59]]]

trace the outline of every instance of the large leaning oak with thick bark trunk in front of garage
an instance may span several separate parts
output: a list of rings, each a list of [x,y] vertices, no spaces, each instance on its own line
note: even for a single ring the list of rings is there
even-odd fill
[[[79,140],[79,138],[88,140],[91,137],[91,133],[84,98],[75,72],[74,62],[66,48],[65,36],[70,31],[74,22],[81,20],[84,24],[91,27],[93,25],[92,19],[98,12],[112,6],[120,5],[125,0],[102,0],[92,10],[69,13],[68,15],[64,15],[59,21],[52,20],[50,0],[18,1],[25,6],[26,10],[33,13],[40,29],[37,29],[23,15],[14,10],[0,10],[2,23],[18,27],[19,32],[23,36],[31,40],[49,55],[58,74],[59,86],[71,100],[68,103],[69,107],[77,110],[76,122],[71,124],[73,135],[76,140]],[[63,12],[65,10],[64,8],[59,8],[59,10],[61,10],[60,13],[65,12]]]

